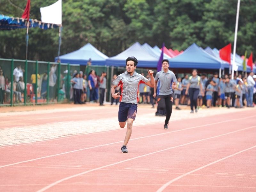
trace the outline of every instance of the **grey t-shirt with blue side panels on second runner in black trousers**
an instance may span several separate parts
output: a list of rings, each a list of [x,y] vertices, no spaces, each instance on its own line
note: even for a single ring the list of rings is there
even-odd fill
[[[156,73],[155,79],[158,81],[159,92],[157,95],[170,95],[172,91],[172,83],[177,82],[176,76],[170,70],[167,73],[164,71],[159,71]]]

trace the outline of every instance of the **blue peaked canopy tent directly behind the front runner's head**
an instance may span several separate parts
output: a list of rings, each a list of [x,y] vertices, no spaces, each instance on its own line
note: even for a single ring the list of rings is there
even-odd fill
[[[156,68],[157,62],[159,60],[156,55],[151,55],[138,42],[136,42],[125,51],[114,57],[108,58],[106,64],[108,66],[124,67],[126,58],[131,56],[134,56],[138,59],[138,67],[144,68]]]

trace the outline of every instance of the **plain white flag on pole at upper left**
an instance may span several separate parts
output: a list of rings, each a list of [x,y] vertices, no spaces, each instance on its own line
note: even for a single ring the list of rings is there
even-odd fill
[[[60,25],[62,23],[61,0],[47,7],[41,7],[41,21]]]

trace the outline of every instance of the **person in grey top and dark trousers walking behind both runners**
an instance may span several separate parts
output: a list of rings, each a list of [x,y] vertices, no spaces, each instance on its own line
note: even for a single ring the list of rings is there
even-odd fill
[[[199,92],[201,92],[202,96],[204,96],[202,79],[200,76],[197,75],[197,70],[193,69],[192,76],[189,77],[188,86],[185,93],[185,94],[189,93],[190,108],[191,108],[190,113],[194,113],[194,107],[195,107],[195,112],[197,113],[197,97]]]

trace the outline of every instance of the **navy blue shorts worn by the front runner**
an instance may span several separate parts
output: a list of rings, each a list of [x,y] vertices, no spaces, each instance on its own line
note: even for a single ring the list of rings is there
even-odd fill
[[[125,122],[129,118],[135,120],[137,109],[137,104],[120,102],[118,110],[118,121]]]

